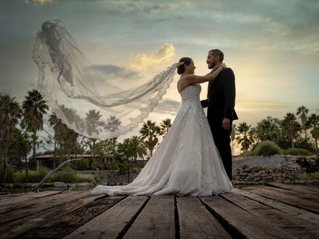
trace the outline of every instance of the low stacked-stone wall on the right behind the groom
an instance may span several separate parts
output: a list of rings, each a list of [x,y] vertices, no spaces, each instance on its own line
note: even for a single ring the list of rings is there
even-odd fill
[[[318,160],[317,156],[292,156],[284,157],[285,163],[282,166],[256,167],[254,165],[243,165],[237,168],[235,181],[260,182],[280,181],[293,182],[307,176],[307,166],[311,166]]]

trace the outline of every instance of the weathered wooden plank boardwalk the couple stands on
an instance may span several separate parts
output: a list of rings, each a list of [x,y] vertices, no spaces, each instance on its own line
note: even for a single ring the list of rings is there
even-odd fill
[[[272,183],[213,197],[5,195],[0,238],[319,238],[319,188]]]

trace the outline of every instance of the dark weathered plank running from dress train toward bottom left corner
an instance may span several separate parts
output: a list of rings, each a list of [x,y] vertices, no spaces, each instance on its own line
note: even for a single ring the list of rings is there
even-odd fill
[[[15,236],[22,234],[24,239],[63,238],[91,219],[105,212],[125,197],[126,196],[106,197],[105,195],[87,196],[48,210],[46,213],[37,215],[37,218],[25,218],[19,228],[7,231],[7,235]],[[29,222],[27,221],[28,219]],[[38,221],[40,222],[38,223]],[[30,227],[29,229],[28,226]],[[14,238],[13,236],[9,238]]]

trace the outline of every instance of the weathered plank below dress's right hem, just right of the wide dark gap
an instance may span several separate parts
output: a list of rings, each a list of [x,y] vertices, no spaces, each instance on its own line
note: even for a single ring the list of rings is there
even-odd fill
[[[200,200],[233,238],[294,238],[220,197],[203,197]]]

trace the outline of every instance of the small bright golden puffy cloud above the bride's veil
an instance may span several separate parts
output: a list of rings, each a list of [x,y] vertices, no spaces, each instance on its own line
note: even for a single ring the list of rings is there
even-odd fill
[[[138,53],[133,57],[131,66],[137,69],[146,69],[153,64],[167,62],[172,56],[175,55],[175,48],[170,43],[164,43],[159,50],[147,56],[144,53]]]

